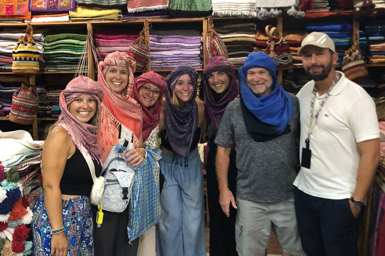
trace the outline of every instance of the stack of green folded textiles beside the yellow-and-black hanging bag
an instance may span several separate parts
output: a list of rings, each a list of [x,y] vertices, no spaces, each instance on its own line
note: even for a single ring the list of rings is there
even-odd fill
[[[75,33],[49,34],[44,40],[46,71],[76,71],[87,35]]]

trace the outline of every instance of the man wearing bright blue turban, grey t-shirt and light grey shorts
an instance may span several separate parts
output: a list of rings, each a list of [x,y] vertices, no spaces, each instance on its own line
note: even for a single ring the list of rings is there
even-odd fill
[[[238,208],[240,256],[265,255],[271,227],[283,255],[304,255],[297,229],[292,182],[297,173],[299,105],[277,82],[277,63],[252,52],[238,70],[240,98],[230,102],[215,143],[220,204]],[[227,184],[229,155],[236,149],[237,198]]]

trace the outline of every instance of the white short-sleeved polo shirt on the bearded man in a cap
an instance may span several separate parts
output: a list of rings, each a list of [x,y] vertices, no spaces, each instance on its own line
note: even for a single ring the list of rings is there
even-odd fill
[[[358,84],[341,74],[323,105],[310,135],[311,166],[301,167],[294,185],[303,192],[328,199],[349,198],[355,189],[360,160],[357,142],[378,138],[373,99]],[[301,121],[300,158],[310,124],[314,80],[298,92]],[[326,93],[316,95],[314,111]]]

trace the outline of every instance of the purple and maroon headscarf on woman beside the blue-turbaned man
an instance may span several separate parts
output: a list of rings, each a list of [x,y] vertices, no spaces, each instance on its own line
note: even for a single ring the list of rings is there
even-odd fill
[[[212,72],[223,71],[230,78],[230,84],[227,88],[225,95],[219,100],[215,100],[218,98],[218,94],[209,86],[208,76]],[[207,64],[205,70],[203,71],[203,85],[205,88],[205,114],[207,120],[211,120],[211,122],[215,125],[216,131],[218,131],[219,125],[221,124],[223,113],[227,105],[233,101],[239,93],[238,83],[235,80],[235,69],[232,63],[225,57],[215,56],[210,59]]]

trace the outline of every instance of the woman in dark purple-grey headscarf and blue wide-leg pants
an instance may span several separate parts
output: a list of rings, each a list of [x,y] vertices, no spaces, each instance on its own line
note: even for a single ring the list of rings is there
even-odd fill
[[[206,256],[202,162],[198,153],[204,102],[196,100],[198,73],[178,66],[167,76],[165,122],[159,123],[164,186],[157,255]]]

